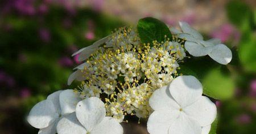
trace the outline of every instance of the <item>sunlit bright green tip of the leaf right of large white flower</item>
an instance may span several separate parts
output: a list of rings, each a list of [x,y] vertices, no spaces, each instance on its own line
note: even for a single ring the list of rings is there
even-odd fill
[[[220,68],[214,68],[203,79],[204,94],[217,100],[228,100],[234,95],[234,81]]]

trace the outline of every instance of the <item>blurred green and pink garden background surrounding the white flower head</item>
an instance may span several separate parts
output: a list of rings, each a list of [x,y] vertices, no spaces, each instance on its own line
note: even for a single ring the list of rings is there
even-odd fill
[[[220,89],[229,95],[216,101],[217,133],[255,133],[254,0],[1,0],[0,133],[37,133],[24,118],[48,94],[76,87],[67,86],[80,64],[72,53],[146,16],[172,27],[187,21],[232,48],[229,90]],[[146,122],[130,120],[122,123],[126,133],[147,133]]]

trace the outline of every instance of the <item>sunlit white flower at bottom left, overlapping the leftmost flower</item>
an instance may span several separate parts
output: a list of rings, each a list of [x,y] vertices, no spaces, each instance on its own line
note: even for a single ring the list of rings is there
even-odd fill
[[[123,133],[123,128],[117,120],[105,115],[105,105],[99,98],[86,98],[77,103],[76,113],[60,119],[57,132],[59,134]]]

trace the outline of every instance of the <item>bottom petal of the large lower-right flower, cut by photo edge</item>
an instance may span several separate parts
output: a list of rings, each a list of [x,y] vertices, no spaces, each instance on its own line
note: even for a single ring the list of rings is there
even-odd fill
[[[184,113],[181,113],[179,118],[169,128],[169,133],[171,134],[200,134],[201,131],[202,128],[199,123],[188,118]]]

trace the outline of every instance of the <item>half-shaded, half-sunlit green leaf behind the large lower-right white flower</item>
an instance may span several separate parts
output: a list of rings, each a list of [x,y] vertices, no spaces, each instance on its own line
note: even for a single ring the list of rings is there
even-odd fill
[[[203,84],[204,94],[214,99],[228,100],[234,94],[234,81],[228,68],[209,57],[185,59],[178,73],[195,76]]]

